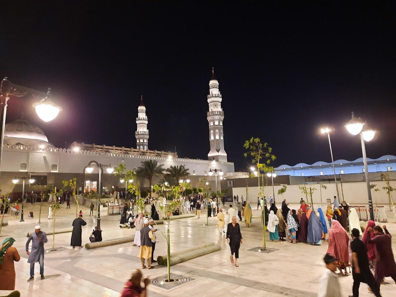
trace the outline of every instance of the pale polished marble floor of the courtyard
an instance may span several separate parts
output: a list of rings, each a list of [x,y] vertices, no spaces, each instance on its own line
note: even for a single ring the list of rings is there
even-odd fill
[[[43,204],[44,205],[44,204]],[[291,205],[297,209],[298,205]],[[37,209],[38,205],[34,206]],[[62,208],[65,208],[62,205]],[[75,208],[61,209],[57,215],[57,228],[71,227],[75,218]],[[257,206],[256,206],[257,207]],[[193,293],[198,296],[316,296],[319,289],[319,279],[325,267],[323,256],[327,250],[327,242],[322,246],[309,244],[290,244],[289,242],[271,243],[267,232],[267,247],[278,250],[272,253],[259,253],[249,249],[261,246],[262,227],[259,211],[253,205],[252,227],[247,228],[244,222],[241,226],[244,243],[240,248],[240,267],[230,264],[230,250],[225,235],[220,235],[216,228],[217,219],[209,218],[206,225],[206,214],[201,219],[187,218],[171,221],[171,252],[183,250],[201,244],[215,242],[220,244],[220,251],[192,259],[171,267],[174,274],[194,278],[182,286],[174,289],[162,289],[150,285],[148,296],[188,296]],[[48,206],[45,203],[42,214],[43,231],[52,230],[52,220],[48,220]],[[316,208],[316,207],[315,207]],[[26,208],[25,208],[26,209]],[[83,245],[89,242],[93,221],[86,214],[88,208],[83,208],[87,226],[83,227]],[[204,211],[204,209],[202,209]],[[59,252],[47,253],[44,257],[45,279],[40,280],[39,265],[36,263],[35,280],[27,282],[30,266],[27,263],[25,251],[26,234],[33,232],[37,223],[35,218],[25,215],[25,222],[11,219],[10,224],[2,229],[2,238],[12,236],[21,255],[21,261],[15,263],[16,286],[21,296],[120,296],[124,283],[128,280],[135,268],[140,268],[140,259],[136,257],[139,247],[132,243],[97,249],[72,250],[70,245],[71,233],[55,235],[55,247],[63,247]],[[389,215],[388,215],[389,219]],[[135,234],[134,229],[119,228],[120,216],[102,216],[101,228],[103,240],[120,238]],[[383,225],[383,224],[381,224]],[[396,224],[387,223],[388,230],[395,235],[392,238],[392,247],[396,251]],[[159,225],[164,232],[166,226]],[[46,251],[52,248],[52,235],[48,236],[45,244]],[[3,240],[2,239],[2,240]],[[2,241],[1,240],[1,241]],[[165,238],[157,234],[155,257],[166,254]],[[143,270],[144,276],[156,278],[167,273],[165,266],[156,266],[153,270]],[[391,278],[386,278],[389,284],[381,285],[384,297],[395,296],[396,285]],[[339,278],[343,296],[352,295],[352,276]],[[360,296],[373,296],[367,292],[367,286],[360,286]]]

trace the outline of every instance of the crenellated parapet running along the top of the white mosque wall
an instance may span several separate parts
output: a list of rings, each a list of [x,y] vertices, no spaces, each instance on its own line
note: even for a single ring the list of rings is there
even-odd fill
[[[81,149],[80,149],[81,147]],[[91,149],[84,149],[92,147]],[[8,151],[29,151],[29,152],[45,152],[49,154],[71,154],[71,155],[89,155],[89,156],[105,156],[105,157],[122,157],[131,159],[146,159],[146,160],[158,160],[158,161],[174,161],[174,162],[186,162],[186,163],[199,163],[199,164],[211,164],[211,165],[234,165],[234,162],[222,162],[222,161],[209,161],[201,159],[190,159],[190,158],[178,158],[174,152],[164,152],[158,150],[138,150],[136,148],[124,148],[124,147],[109,147],[106,145],[87,145],[84,143],[72,143],[72,148],[38,148],[28,147],[25,145],[3,145],[4,150]],[[76,149],[79,148],[79,149]]]

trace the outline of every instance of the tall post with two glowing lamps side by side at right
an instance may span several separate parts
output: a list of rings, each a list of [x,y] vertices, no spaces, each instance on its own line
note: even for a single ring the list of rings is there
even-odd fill
[[[371,198],[371,189],[370,189],[370,181],[369,181],[369,171],[367,168],[367,156],[366,156],[366,146],[364,145],[364,141],[370,141],[373,139],[375,135],[375,130],[367,128],[366,123],[361,118],[356,118],[352,112],[352,119],[345,125],[346,129],[352,135],[360,134],[360,143],[362,145],[362,154],[363,154],[363,164],[364,164],[364,176],[366,177],[366,186],[367,186],[367,194],[369,198],[369,211],[370,211],[370,220],[374,221],[374,210],[373,210],[373,200]]]

